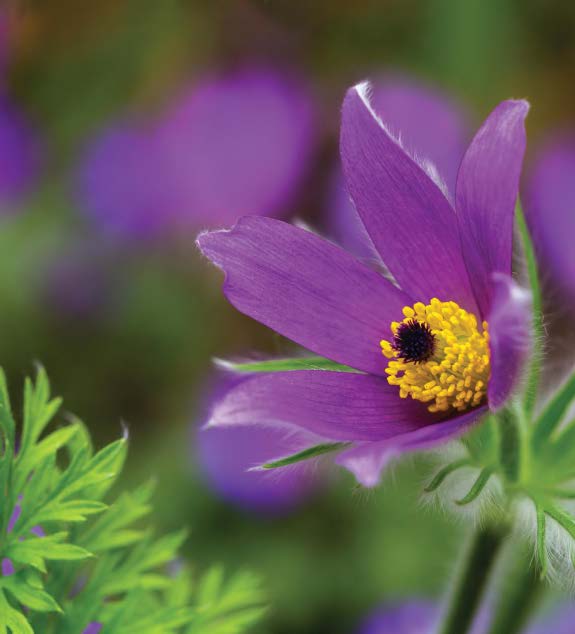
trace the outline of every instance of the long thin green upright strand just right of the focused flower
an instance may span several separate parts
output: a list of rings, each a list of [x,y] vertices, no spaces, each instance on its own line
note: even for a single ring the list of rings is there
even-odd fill
[[[541,357],[543,356],[543,301],[541,297],[541,285],[539,283],[539,272],[537,267],[537,258],[533,241],[525,221],[525,215],[521,208],[521,203],[517,201],[515,210],[517,228],[521,236],[523,246],[523,254],[527,266],[527,276],[529,278],[529,286],[531,287],[533,301],[533,353],[529,372],[527,375],[527,383],[525,389],[525,414],[528,419],[533,414],[535,401],[537,399],[537,388],[539,386],[539,375],[541,373]]]

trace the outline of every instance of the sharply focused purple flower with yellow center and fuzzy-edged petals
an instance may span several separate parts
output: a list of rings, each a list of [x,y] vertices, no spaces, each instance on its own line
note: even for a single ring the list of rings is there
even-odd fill
[[[461,161],[452,204],[437,169],[375,114],[368,85],[349,90],[347,187],[393,281],[270,218],[202,234],[237,309],[354,370],[250,377],[216,404],[209,426],[291,426],[350,443],[337,462],[373,486],[391,455],[458,436],[503,407],[530,339],[529,296],[511,277],[527,111],[505,101],[490,114]]]

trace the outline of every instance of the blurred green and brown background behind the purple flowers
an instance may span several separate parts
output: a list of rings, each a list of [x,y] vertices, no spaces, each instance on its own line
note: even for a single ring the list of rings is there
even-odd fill
[[[548,130],[575,125],[575,5],[23,0],[6,10],[6,90],[41,144],[38,177],[0,219],[0,360],[11,383],[41,360],[99,442],[125,422],[126,484],[157,476],[156,521],[190,527],[187,555],[197,566],[221,561],[263,575],[272,607],[262,631],[350,633],[382,600],[437,596],[462,531],[421,508],[421,460],[369,492],[333,473],[279,517],[212,491],[194,453],[212,357],[287,344],[225,302],[221,276],[195,251],[200,226],[138,244],[102,237],[74,194],[78,163],[110,121],[154,116],[205,73],[278,65],[309,84],[319,113],[313,160],[291,205],[316,225],[337,164],[341,99],[366,76],[423,79],[475,123],[501,99],[526,97],[530,152]],[[59,302],[59,274],[89,305],[96,296],[93,310]]]

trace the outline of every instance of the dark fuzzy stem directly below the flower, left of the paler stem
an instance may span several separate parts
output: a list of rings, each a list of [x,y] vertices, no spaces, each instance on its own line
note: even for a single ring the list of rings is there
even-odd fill
[[[505,535],[505,530],[493,526],[475,533],[453,584],[439,634],[465,634],[470,630]]]

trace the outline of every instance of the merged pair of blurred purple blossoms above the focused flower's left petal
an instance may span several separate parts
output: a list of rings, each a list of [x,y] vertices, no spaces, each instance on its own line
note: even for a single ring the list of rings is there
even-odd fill
[[[105,231],[135,239],[278,216],[293,211],[313,147],[313,102],[298,80],[263,68],[215,75],[156,121],[119,122],[96,138],[80,203]]]

